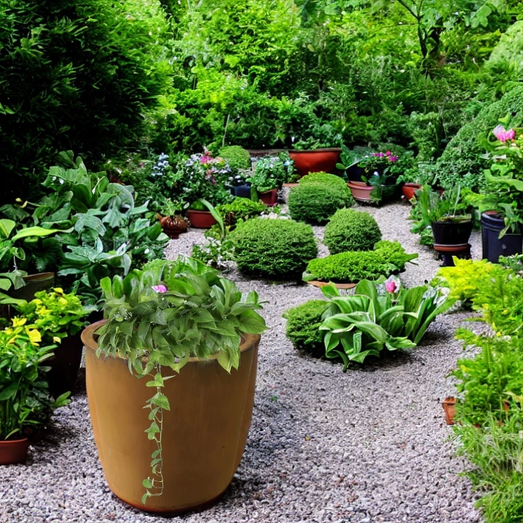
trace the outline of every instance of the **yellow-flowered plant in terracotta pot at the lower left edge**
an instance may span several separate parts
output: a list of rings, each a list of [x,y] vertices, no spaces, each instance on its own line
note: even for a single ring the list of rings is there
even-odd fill
[[[16,319],[0,331],[0,464],[23,463],[30,438],[57,407],[68,404],[68,393],[50,395],[45,360],[52,345],[40,347],[41,337],[26,319]]]

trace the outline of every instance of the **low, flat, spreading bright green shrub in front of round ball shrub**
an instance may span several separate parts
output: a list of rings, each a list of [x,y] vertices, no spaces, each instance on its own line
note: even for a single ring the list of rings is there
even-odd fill
[[[377,280],[403,271],[407,261],[417,257],[417,254],[407,255],[400,242],[384,240],[374,245],[374,250],[353,250],[313,259],[303,279],[335,283]]]

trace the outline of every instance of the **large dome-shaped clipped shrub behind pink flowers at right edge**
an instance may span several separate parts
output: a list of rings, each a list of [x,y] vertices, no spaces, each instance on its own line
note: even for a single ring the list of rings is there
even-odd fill
[[[471,189],[483,187],[483,169],[490,167],[490,162],[482,158],[485,150],[478,139],[494,129],[499,119],[507,114],[523,116],[523,86],[511,89],[501,100],[484,107],[450,140],[433,167],[437,180],[444,188],[456,185]]]

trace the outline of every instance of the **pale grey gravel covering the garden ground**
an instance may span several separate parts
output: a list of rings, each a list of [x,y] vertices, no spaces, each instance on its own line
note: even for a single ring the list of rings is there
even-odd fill
[[[420,285],[436,273],[434,252],[409,232],[408,204],[368,207],[384,239],[419,252],[402,275]],[[315,234],[321,238],[322,227]],[[194,230],[169,243],[167,255],[201,243]],[[480,257],[473,233],[472,255]],[[325,255],[326,251],[321,250]],[[307,285],[230,278],[268,303],[255,411],[248,445],[229,491],[202,513],[175,522],[480,522],[463,462],[453,455],[441,400],[452,392],[446,374],[462,354],[453,340],[467,317],[447,314],[409,354],[343,373],[341,365],[302,356],[285,338],[282,312],[321,291]],[[0,468],[0,522],[162,522],[116,499],[105,484],[80,376],[77,393],[26,466]]]

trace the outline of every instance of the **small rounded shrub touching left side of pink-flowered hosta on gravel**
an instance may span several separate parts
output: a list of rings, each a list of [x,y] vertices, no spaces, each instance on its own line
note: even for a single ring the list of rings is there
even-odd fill
[[[310,300],[287,310],[283,317],[287,319],[285,334],[296,349],[317,356],[325,355],[323,333],[319,330],[321,314],[328,305],[324,300]]]

